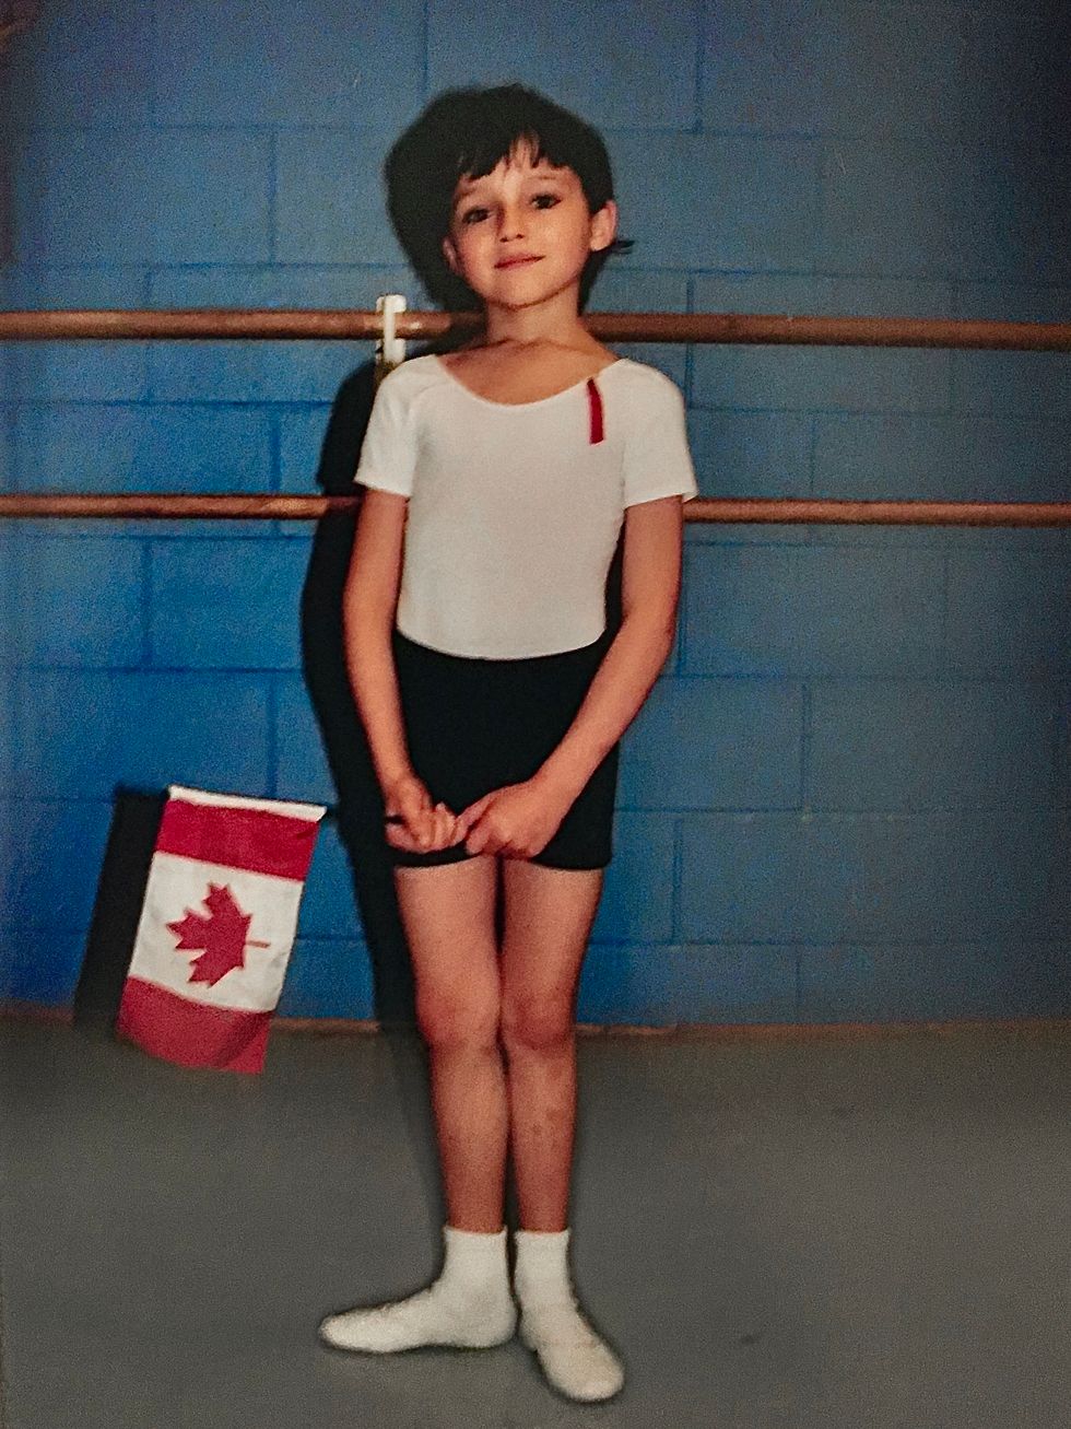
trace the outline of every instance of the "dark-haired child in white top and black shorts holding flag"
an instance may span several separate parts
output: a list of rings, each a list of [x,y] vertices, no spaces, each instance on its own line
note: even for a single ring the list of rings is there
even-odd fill
[[[380,384],[344,596],[430,1056],[446,1258],[430,1288],[320,1333],[377,1352],[510,1339],[508,1146],[521,1338],[558,1392],[608,1399],[624,1372],[568,1270],[574,1006],[618,740],[674,639],[681,497],[697,494],[684,403],[578,316],[617,227],[605,147],[580,119],[520,86],[450,91],[387,171],[403,242],[484,319]]]

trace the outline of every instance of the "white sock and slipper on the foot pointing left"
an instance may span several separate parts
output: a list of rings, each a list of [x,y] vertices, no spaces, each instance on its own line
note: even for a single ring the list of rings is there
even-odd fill
[[[443,1226],[446,1259],[438,1278],[404,1300],[328,1315],[320,1338],[336,1349],[388,1353],[418,1345],[484,1349],[513,1336],[506,1228],[496,1232]]]

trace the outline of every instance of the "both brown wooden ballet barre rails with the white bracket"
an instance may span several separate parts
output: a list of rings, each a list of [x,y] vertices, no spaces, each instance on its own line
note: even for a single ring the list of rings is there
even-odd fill
[[[0,342],[80,340],[376,340],[381,367],[406,340],[476,332],[478,313],[406,310],[384,294],[371,310],[74,309],[0,313]],[[1071,352],[1071,323],[934,317],[820,317],[781,313],[590,313],[603,342]],[[351,512],[361,496],[276,493],[0,493],[0,517],[79,520],[320,520]],[[688,523],[833,526],[1071,526],[1071,502],[858,502],[697,497]]]

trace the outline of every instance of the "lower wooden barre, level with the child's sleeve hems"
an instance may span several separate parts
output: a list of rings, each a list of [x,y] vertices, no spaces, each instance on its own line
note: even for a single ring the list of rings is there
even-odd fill
[[[0,494],[0,517],[74,520],[317,520],[356,510],[360,496]],[[1071,502],[825,502],[697,497],[685,522],[831,526],[1071,526]]]

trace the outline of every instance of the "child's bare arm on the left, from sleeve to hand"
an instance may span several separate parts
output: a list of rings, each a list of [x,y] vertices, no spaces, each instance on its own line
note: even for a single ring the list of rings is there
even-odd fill
[[[404,826],[388,826],[388,842],[444,847],[453,842],[453,817],[431,807],[410,763],[391,646],[406,507],[404,496],[364,492],[343,593],[346,667],[387,810],[406,816]]]

